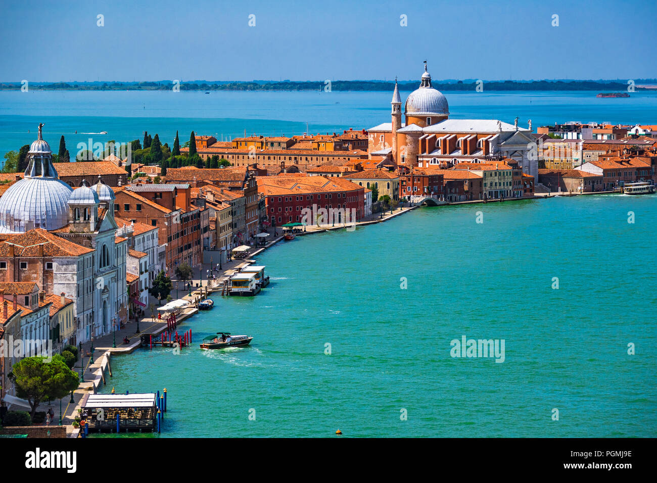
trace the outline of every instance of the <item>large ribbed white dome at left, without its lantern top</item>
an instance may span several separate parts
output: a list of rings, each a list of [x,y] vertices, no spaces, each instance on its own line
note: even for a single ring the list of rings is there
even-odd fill
[[[33,228],[51,231],[68,224],[71,187],[51,177],[25,177],[0,198],[0,233]]]

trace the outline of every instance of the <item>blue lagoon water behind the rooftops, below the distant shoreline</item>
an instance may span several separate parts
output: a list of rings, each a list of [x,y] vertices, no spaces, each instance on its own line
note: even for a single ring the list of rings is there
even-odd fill
[[[407,92],[401,93],[405,99]],[[654,124],[657,93],[629,99],[597,99],[595,92],[445,92],[454,119],[501,119],[520,126],[579,120]],[[189,133],[227,139],[246,134],[300,135],[367,129],[390,122],[387,92],[179,92],[168,91],[0,91],[0,163],[8,150],[35,139],[39,122],[57,150],[64,135],[68,150],[78,143],[143,139],[146,130],[173,145]],[[30,131],[28,133],[28,130]],[[76,134],[75,131],[78,131]],[[106,135],[99,134],[107,131]]]

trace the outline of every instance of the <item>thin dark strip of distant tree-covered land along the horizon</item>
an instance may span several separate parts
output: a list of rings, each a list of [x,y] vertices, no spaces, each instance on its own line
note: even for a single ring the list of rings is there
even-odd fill
[[[654,79],[636,80],[637,91],[650,91]],[[170,91],[175,87],[172,81],[151,82],[30,82],[29,89],[36,91]],[[440,91],[476,91],[478,81],[442,81],[433,86]],[[20,82],[0,83],[0,90],[20,90]],[[328,81],[181,81],[177,84],[181,91],[328,91]],[[330,81],[330,91],[390,91],[394,81]],[[413,91],[417,81],[399,83],[399,90]],[[627,81],[592,80],[541,80],[541,81],[483,81],[484,91],[625,91]]]

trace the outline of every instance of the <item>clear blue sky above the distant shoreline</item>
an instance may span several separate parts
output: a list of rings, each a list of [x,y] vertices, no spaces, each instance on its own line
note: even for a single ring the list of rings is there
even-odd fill
[[[5,1],[0,81],[417,80],[424,60],[434,80],[657,78],[656,19],[654,0]]]

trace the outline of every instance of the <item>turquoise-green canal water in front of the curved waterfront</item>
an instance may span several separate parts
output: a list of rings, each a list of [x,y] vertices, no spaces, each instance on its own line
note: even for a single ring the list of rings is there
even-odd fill
[[[162,436],[657,436],[656,201],[420,208],[278,244],[259,296],[182,327],[250,347],[139,350],[110,384],[168,388]],[[451,357],[463,335],[504,339],[505,361]]]

